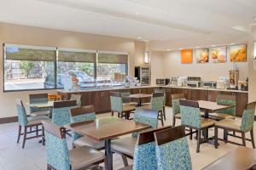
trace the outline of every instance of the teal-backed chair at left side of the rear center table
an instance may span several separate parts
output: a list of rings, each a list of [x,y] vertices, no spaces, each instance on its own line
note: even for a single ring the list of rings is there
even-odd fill
[[[113,112],[118,112],[118,117],[122,118],[125,116],[125,119],[129,119],[131,111],[135,111],[135,106],[123,105],[123,98],[119,92],[109,92],[109,94],[112,116]]]

